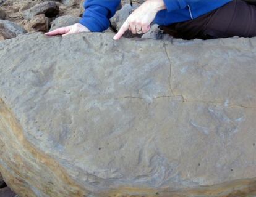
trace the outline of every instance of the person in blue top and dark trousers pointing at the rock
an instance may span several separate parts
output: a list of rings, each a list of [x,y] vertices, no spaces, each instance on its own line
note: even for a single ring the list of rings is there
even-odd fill
[[[87,0],[79,23],[45,33],[66,36],[72,33],[106,30],[120,0]],[[242,0],[147,0],[129,15],[113,39],[130,30],[147,33],[151,23],[182,39],[213,39],[256,36],[256,6]]]

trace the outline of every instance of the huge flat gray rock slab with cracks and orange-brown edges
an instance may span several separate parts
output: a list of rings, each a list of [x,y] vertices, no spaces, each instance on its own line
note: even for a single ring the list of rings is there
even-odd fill
[[[256,39],[112,38],[0,42],[7,185],[19,196],[255,196]]]

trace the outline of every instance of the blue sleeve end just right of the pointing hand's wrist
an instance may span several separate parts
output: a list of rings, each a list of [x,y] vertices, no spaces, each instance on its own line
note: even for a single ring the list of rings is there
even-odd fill
[[[173,10],[184,9],[187,5],[197,1],[208,1],[208,0],[163,0],[166,6],[167,12]]]

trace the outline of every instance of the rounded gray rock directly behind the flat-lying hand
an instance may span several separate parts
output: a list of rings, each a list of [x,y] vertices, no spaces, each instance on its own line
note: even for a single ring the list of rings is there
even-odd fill
[[[55,30],[56,28],[60,28],[62,26],[74,25],[75,23],[79,23],[80,17],[74,16],[61,16],[56,18],[51,22],[51,28],[49,31]]]

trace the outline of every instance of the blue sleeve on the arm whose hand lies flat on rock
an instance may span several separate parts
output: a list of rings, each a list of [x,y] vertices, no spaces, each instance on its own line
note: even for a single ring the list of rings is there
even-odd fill
[[[106,30],[109,19],[116,13],[121,0],[85,0],[82,18],[79,23],[86,26],[92,32]]]

